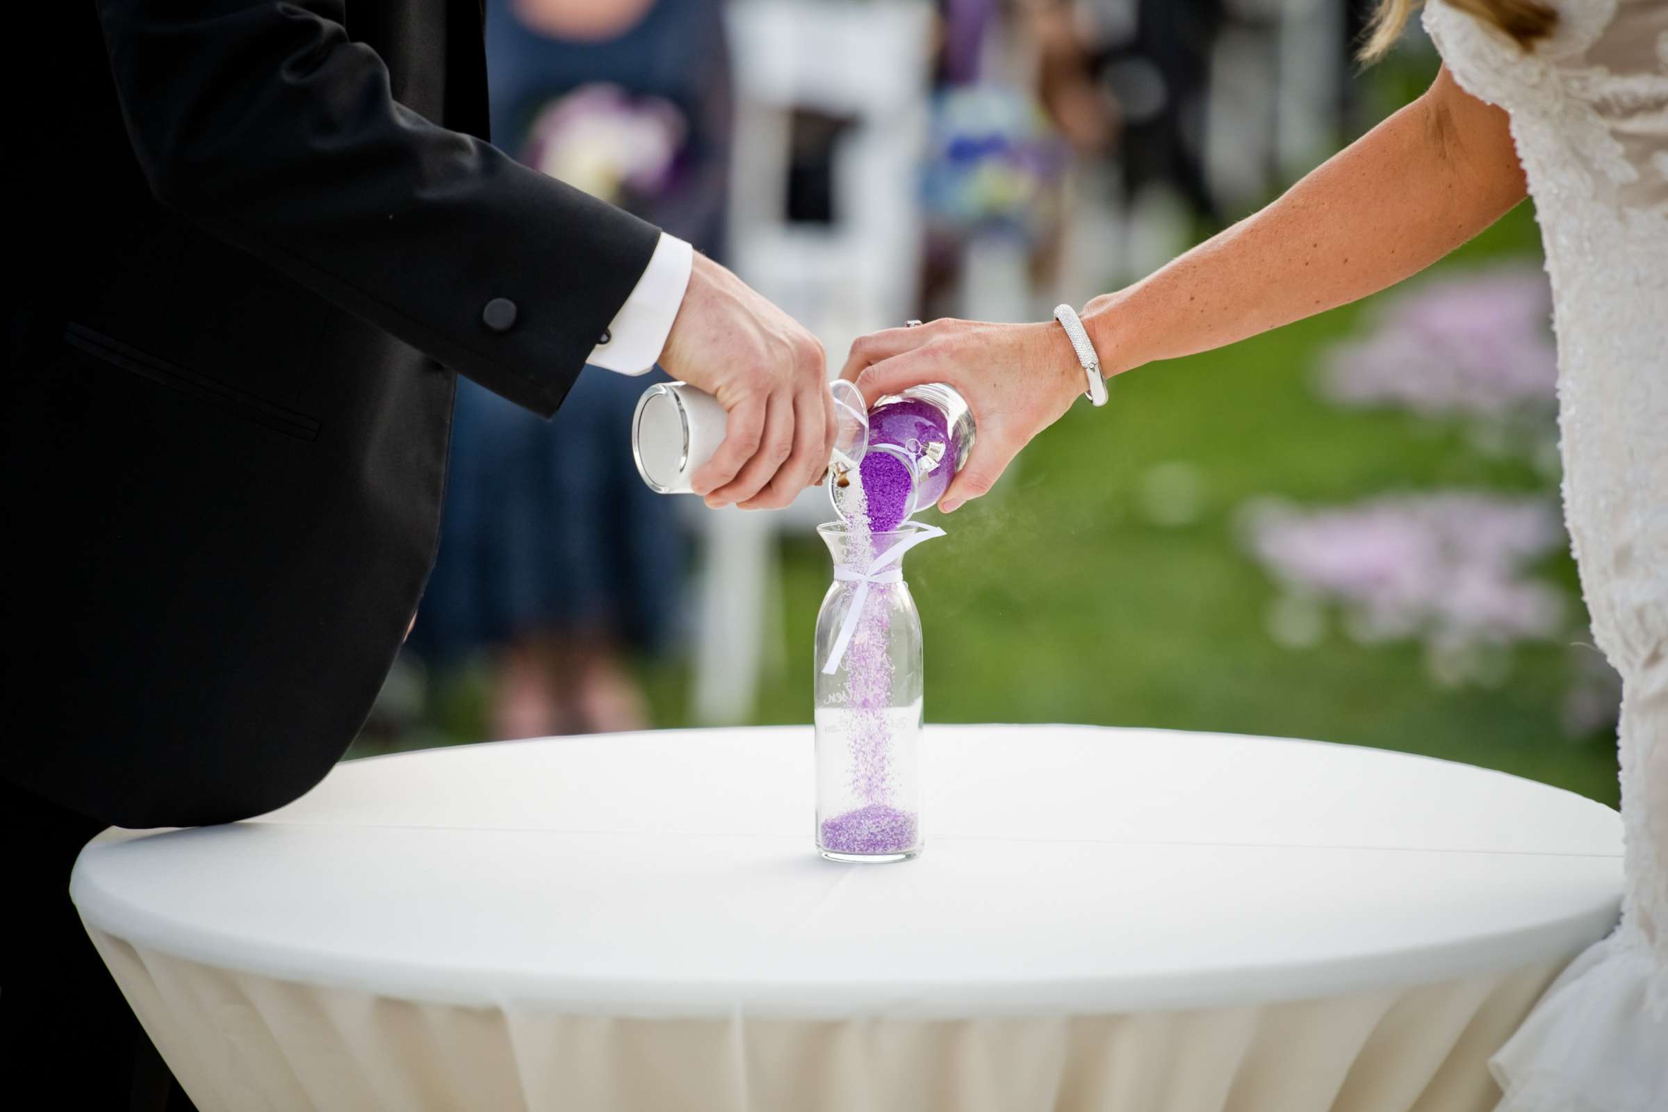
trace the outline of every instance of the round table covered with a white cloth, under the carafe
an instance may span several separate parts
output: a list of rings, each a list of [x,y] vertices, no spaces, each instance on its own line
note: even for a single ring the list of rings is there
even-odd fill
[[[427,750],[110,830],[72,895],[203,1112],[1491,1109],[1621,824],[1318,742],[927,729],[926,852],[812,845],[809,727]]]

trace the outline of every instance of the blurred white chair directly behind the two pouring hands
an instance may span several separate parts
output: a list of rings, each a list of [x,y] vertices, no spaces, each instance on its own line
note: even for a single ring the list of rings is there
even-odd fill
[[[831,373],[856,337],[901,323],[916,300],[932,22],[927,0],[729,7],[731,263],[822,340]],[[787,220],[792,120],[807,110],[851,120],[834,148],[832,223]],[[782,655],[777,537],[809,532],[832,510],[821,488],[776,513],[686,502],[701,538],[692,717],[744,722]]]

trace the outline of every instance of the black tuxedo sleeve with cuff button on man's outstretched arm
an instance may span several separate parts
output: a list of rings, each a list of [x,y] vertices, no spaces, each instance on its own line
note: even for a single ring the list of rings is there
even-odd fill
[[[98,13],[158,200],[497,393],[560,405],[652,225],[397,103],[344,0]]]

